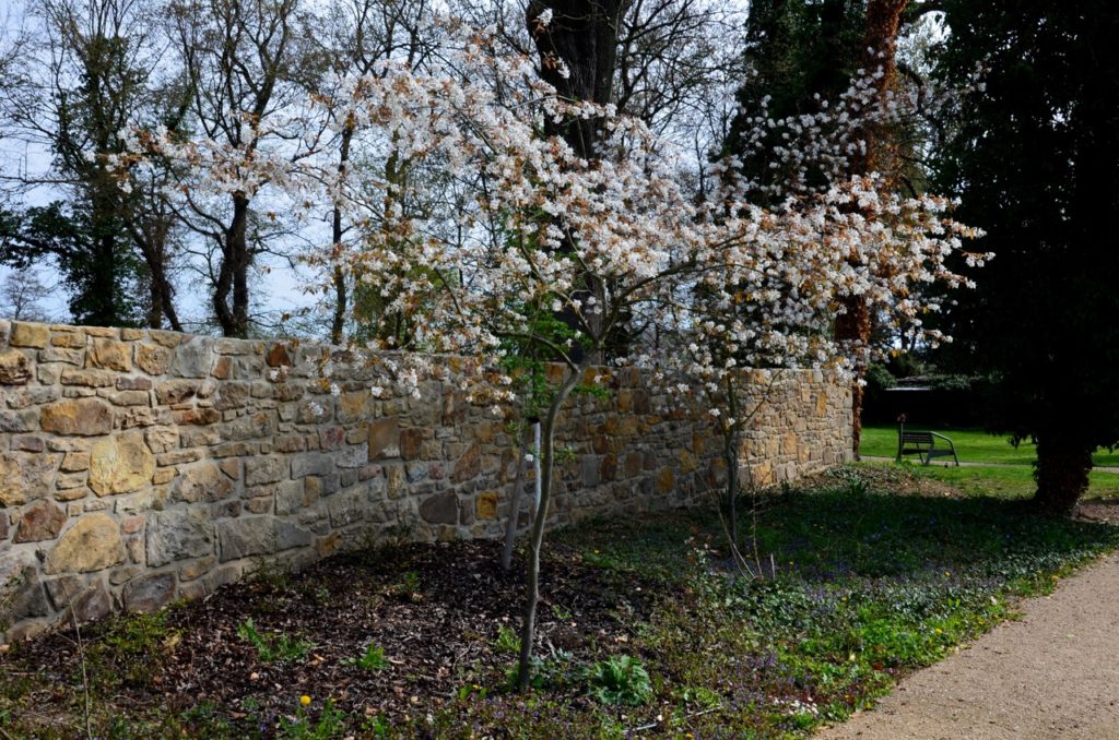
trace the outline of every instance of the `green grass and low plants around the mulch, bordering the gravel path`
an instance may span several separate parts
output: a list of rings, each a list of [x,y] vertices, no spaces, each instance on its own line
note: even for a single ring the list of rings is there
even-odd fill
[[[959,485],[961,495],[902,495],[931,476]],[[825,721],[843,720],[900,676],[1013,616],[1016,599],[1045,594],[1060,577],[1119,548],[1119,528],[1034,516],[1018,501],[1017,484],[1004,485],[1012,480],[1003,468],[946,473],[855,465],[811,487],[770,492],[760,500],[756,529],[764,578],[744,577],[728,566],[720,518],[709,510],[556,532],[546,572],[590,568],[603,573],[603,582],[626,584],[628,590],[618,600],[617,630],[592,632],[589,649],[575,655],[540,648],[527,696],[510,693],[504,676],[463,664],[457,668],[463,686],[457,695],[417,695],[414,714],[392,722],[368,706],[318,699],[305,712],[297,705],[274,720],[246,715],[252,702],[266,701],[261,694],[242,699],[239,712],[220,703],[168,709],[138,730],[132,708],[105,686],[96,699],[95,733],[802,737]],[[744,531],[751,531],[749,520]],[[547,578],[543,590],[547,603]],[[640,618],[626,608],[626,598],[638,591],[651,603]],[[415,618],[439,608],[444,607],[425,604]],[[552,611],[563,607],[553,605]],[[566,613],[562,618],[575,620]],[[479,630],[471,649],[499,652],[508,665],[515,642],[508,632],[498,630],[495,639],[492,630]],[[102,641],[105,651],[132,649],[158,656],[161,665],[173,663],[175,635],[162,620],[114,634],[126,639],[115,648]],[[98,660],[122,665],[110,653]],[[370,675],[379,674],[366,672],[361,680],[376,680]],[[17,681],[32,680],[25,671],[0,671],[3,734],[67,737],[20,719],[28,709],[21,698],[31,692]],[[391,681],[384,684],[385,692],[393,690]]]

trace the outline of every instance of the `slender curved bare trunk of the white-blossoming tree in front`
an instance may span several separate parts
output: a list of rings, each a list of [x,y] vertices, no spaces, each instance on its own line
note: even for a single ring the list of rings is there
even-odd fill
[[[556,390],[540,429],[540,504],[533,519],[533,533],[528,543],[528,563],[525,567],[525,616],[520,626],[520,661],[517,666],[517,689],[528,691],[532,680],[533,641],[536,637],[536,607],[540,600],[540,547],[544,543],[544,528],[552,502],[552,474],[555,468],[555,428],[560,409],[583,374],[587,363],[571,368],[563,385]]]

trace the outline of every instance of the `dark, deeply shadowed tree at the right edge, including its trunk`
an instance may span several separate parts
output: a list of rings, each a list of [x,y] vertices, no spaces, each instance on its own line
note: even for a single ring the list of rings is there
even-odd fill
[[[998,379],[993,427],[1037,443],[1035,502],[1072,510],[1119,443],[1119,13],[1109,0],[949,0],[938,74],[961,101],[941,184],[996,258],[951,313]],[[962,350],[962,351],[959,351]]]

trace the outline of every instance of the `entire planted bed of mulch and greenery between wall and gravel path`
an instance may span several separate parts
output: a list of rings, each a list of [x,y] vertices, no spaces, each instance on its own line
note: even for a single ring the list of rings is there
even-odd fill
[[[405,544],[87,626],[88,730],[76,635],[15,645],[0,730],[794,737],[1119,547],[1119,528],[1037,518],[906,466],[844,467],[758,502],[763,579],[733,569],[708,510],[557,532],[527,694],[511,691],[523,584],[500,543]]]

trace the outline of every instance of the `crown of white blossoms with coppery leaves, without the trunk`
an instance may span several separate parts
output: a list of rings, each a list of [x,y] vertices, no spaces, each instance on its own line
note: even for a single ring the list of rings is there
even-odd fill
[[[551,21],[536,18],[540,30]],[[340,208],[356,240],[323,248],[318,264],[341,267],[377,296],[380,316],[406,328],[382,349],[426,354],[386,360],[395,387],[377,381],[373,397],[421,398],[423,381],[439,377],[438,353],[486,358],[462,373],[460,390],[501,415],[516,398],[511,377],[483,373],[486,362],[533,345],[585,367],[574,349],[593,354],[624,321],[655,330],[618,363],[659,368],[670,396],[704,393],[712,418],[737,427],[753,408],[726,405],[741,368],[857,364],[866,348],[831,339],[853,298],[929,341],[947,339],[921,323],[940,298],[915,288],[967,285],[948,258],[975,231],[950,218],[943,199],[903,198],[875,174],[843,174],[865,150],[867,121],[897,114],[896,101],[875,94],[880,73],[815,114],[752,122],[749,145],[781,142],[782,189],[746,177],[732,158],[713,168],[720,186],[697,201],[683,154],[640,121],[563,99],[532,59],[492,35],[448,22],[442,45],[423,72],[382,63],[346,80],[345,95],[312,96],[257,132],[337,133],[345,121],[363,168],[339,168],[329,148],[293,156],[290,146],[138,142],[197,172],[191,197],[269,186],[311,210]],[[602,155],[587,161],[540,133],[544,121],[565,120],[594,121]],[[824,187],[809,177],[820,171]],[[769,207],[751,201],[759,195]],[[557,314],[566,334],[539,329]]]

